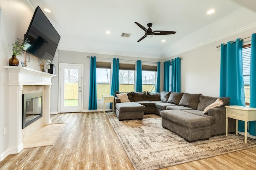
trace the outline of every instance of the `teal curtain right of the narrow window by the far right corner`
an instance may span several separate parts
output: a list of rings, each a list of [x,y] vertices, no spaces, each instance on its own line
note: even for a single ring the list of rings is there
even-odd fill
[[[172,59],[172,92],[180,92],[181,68],[180,57]]]

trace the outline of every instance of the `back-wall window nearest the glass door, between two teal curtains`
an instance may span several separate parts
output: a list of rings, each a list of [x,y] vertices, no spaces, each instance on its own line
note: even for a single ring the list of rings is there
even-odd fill
[[[111,63],[96,62],[97,99],[110,94]]]

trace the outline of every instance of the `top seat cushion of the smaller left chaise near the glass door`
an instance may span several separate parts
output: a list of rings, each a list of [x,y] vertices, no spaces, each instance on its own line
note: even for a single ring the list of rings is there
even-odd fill
[[[145,106],[142,106],[136,102],[125,102],[117,103],[116,109],[118,109],[119,112],[145,111]]]

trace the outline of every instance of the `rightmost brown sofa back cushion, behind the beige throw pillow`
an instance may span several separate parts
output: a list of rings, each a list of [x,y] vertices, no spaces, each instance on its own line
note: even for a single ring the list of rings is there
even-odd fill
[[[213,102],[215,102],[218,98],[216,97],[210,97],[210,96],[200,96],[199,97],[199,103],[197,106],[198,110],[204,111],[204,109],[209,106],[210,104],[212,104]],[[223,106],[229,105],[229,100],[230,97],[222,97],[220,98],[220,100],[222,100],[222,102],[224,103]]]

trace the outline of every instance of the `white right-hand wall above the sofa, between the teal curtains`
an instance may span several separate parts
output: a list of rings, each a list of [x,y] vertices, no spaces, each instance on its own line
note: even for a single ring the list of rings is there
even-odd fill
[[[249,37],[252,33],[256,33],[256,28],[166,59],[170,60],[176,57],[182,57],[181,91],[219,97],[220,48],[216,48],[216,46],[236,40],[236,38]],[[250,44],[250,39],[245,39],[244,44]]]

